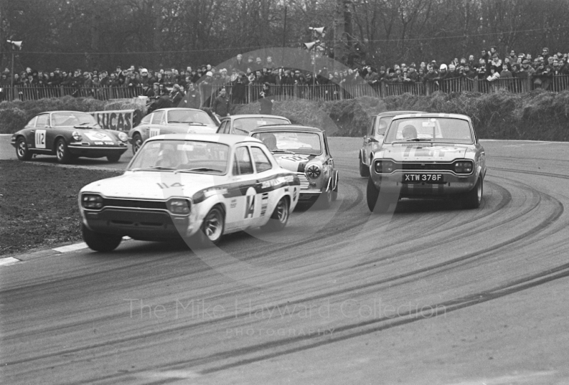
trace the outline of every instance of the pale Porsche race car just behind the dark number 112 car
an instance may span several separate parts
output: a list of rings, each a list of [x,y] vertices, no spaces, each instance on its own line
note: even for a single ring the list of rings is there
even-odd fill
[[[195,108],[161,108],[145,116],[129,130],[132,153],[149,137],[166,134],[213,134],[218,124],[207,112]]]

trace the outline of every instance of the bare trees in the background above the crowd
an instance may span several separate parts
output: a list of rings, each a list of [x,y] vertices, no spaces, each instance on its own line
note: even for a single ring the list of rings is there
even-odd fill
[[[325,52],[356,65],[448,62],[471,53],[478,58],[491,45],[502,57],[511,49],[536,54],[543,46],[565,53],[567,5],[567,0],[0,0],[0,60],[2,68],[9,67],[6,39],[14,39],[23,41],[17,70],[215,65],[283,42],[300,49],[312,40],[309,26],[325,26]]]

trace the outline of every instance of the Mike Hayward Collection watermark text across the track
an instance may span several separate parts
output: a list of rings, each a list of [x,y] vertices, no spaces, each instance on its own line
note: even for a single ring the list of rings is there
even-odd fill
[[[196,320],[253,319],[270,322],[285,319],[295,320],[390,320],[397,317],[430,318],[446,316],[444,305],[420,305],[418,302],[405,302],[391,305],[381,298],[362,303],[358,300],[343,300],[331,303],[326,300],[319,305],[290,303],[281,305],[254,304],[252,300],[235,300],[232,305],[213,303],[205,299],[180,300],[176,298],[166,304],[151,304],[140,298],[126,298],[129,317],[133,320],[179,319]],[[280,335],[280,334],[278,334]]]

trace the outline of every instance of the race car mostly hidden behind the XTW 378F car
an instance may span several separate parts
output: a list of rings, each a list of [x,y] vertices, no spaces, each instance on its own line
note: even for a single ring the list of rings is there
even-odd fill
[[[420,111],[387,111],[375,115],[371,120],[371,125],[368,126],[366,136],[363,137],[363,144],[361,145],[359,153],[359,168],[361,176],[369,176],[369,167],[373,154],[378,151],[383,143],[383,136],[385,130],[395,115],[404,114],[420,114]]]

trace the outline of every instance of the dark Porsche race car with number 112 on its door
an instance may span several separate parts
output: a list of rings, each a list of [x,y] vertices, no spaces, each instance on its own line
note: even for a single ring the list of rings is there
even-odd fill
[[[92,115],[78,111],[50,111],[33,117],[11,138],[20,160],[33,154],[55,155],[59,163],[77,157],[102,158],[118,162],[127,151],[127,134],[104,130]]]

